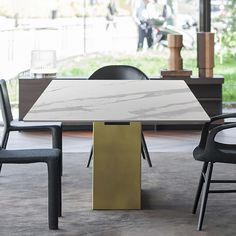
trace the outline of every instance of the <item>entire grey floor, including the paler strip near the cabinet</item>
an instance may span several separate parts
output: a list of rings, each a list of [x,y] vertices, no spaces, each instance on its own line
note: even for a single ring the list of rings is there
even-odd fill
[[[192,215],[191,208],[201,163],[191,158],[191,152],[198,144],[200,131],[147,131],[145,138],[153,168],[143,162],[142,211],[91,211],[92,168],[87,169],[85,165],[92,133],[63,132],[65,172],[60,230],[52,232],[47,228],[46,191],[41,190],[47,189],[46,168],[40,165],[22,165],[18,168],[8,165],[3,168],[0,185],[0,192],[8,191],[8,194],[0,195],[0,235],[235,235],[233,194],[210,196],[204,229],[202,232],[196,230],[198,215]],[[217,138],[236,143],[236,128],[230,133],[221,133]],[[46,146],[50,146],[48,134],[14,132],[10,136],[8,148]],[[221,177],[226,175],[234,178],[234,166],[231,169],[221,167],[219,170]],[[34,174],[27,176],[25,181],[24,173],[29,171]],[[25,206],[27,211],[24,210]],[[33,222],[40,224],[35,223],[34,227]]]

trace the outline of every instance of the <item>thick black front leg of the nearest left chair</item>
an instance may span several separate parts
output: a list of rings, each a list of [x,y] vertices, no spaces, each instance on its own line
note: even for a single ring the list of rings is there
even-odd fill
[[[49,229],[58,229],[58,159],[48,161],[48,224]]]

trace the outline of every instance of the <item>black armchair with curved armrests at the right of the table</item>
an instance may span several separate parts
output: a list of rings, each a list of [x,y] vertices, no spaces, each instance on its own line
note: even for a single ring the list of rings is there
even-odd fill
[[[208,193],[236,192],[236,190],[210,190],[210,183],[236,183],[236,180],[211,179],[214,163],[236,164],[236,144],[220,143],[215,140],[215,137],[219,132],[236,127],[236,122],[223,124],[222,122],[219,123],[219,120],[226,118],[236,118],[236,113],[212,117],[211,120],[204,125],[202,129],[200,143],[193,151],[194,158],[197,161],[204,162],[192,210],[192,213],[195,214],[204,184],[202,203],[197,227],[198,230],[202,229]],[[214,124],[213,126],[212,123],[215,121],[218,121],[218,124]]]

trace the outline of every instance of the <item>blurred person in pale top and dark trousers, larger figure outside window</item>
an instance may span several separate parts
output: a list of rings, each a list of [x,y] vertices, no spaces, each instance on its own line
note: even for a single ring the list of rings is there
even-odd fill
[[[144,38],[147,39],[148,48],[152,47],[152,19],[150,16],[150,9],[148,7],[149,0],[140,0],[136,3],[133,18],[138,26],[138,47],[137,51],[143,49]]]

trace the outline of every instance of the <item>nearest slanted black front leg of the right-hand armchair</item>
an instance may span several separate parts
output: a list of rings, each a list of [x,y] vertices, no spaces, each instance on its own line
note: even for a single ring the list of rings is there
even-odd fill
[[[201,204],[200,215],[199,215],[199,220],[198,220],[197,229],[199,231],[202,230],[202,223],[203,223],[205,210],[206,210],[207,197],[208,197],[209,188],[210,188],[212,170],[213,170],[213,163],[210,162],[209,167],[207,168],[206,180],[205,180],[203,196],[202,196],[202,204]]]

